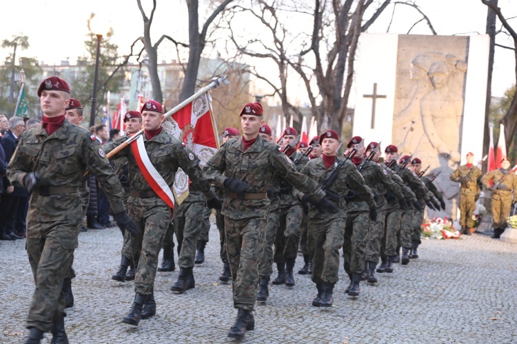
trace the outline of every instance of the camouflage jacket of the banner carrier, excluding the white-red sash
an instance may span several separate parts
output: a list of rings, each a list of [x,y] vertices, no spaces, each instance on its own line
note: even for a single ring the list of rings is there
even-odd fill
[[[108,153],[128,140],[128,138],[130,137],[123,136],[121,138],[117,138],[116,140],[105,144],[103,149]],[[174,178],[176,177],[176,171],[178,168],[181,168],[189,176],[191,185],[194,184],[199,191],[205,194],[208,200],[215,196],[214,189],[210,186],[210,183],[203,178],[203,171],[201,171],[201,167],[199,166],[199,158],[197,158],[192,151],[183,147],[183,144],[179,140],[171,136],[167,131],[162,130],[151,140],[148,140],[144,133],[143,142],[150,162],[156,171],[160,173],[168,186],[172,187],[172,184],[174,184]],[[136,164],[136,160],[134,160],[131,147],[125,147],[116,153],[112,159],[118,159],[121,157],[128,158],[128,176],[130,179],[131,190],[152,191],[151,186],[141,173],[138,164]]]

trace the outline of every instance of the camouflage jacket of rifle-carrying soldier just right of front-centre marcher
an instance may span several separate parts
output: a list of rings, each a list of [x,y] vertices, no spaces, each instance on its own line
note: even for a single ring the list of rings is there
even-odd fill
[[[336,163],[334,166],[337,166],[337,164],[341,162],[343,162],[343,158],[336,157]],[[323,185],[325,180],[327,180],[329,175],[332,173],[333,169],[334,168],[332,167],[327,169],[327,167],[325,167],[325,163],[323,162],[323,158],[319,157],[307,162],[301,172],[305,173],[305,175],[311,179],[316,180],[316,182],[318,182],[320,185]],[[374,201],[374,194],[372,193],[372,190],[366,186],[363,176],[357,171],[356,166],[352,162],[347,161],[345,164],[343,164],[343,166],[341,166],[341,169],[339,169],[338,176],[329,189],[330,192],[341,196],[339,201],[336,202],[336,206],[338,206],[341,211],[332,214],[321,213],[316,207],[311,206],[309,208],[309,217],[326,219],[346,217],[348,206],[345,196],[348,194],[350,189],[354,189],[354,191],[360,195],[361,201],[366,202],[367,208],[370,206],[376,206]]]

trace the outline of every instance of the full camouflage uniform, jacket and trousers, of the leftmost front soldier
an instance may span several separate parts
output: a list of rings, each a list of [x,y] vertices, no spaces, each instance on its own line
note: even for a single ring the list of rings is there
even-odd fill
[[[78,244],[83,220],[79,188],[87,168],[108,195],[114,213],[125,211],[122,186],[101,145],[90,136],[67,120],[50,136],[38,125],[23,133],[8,166],[15,186],[23,186],[27,173],[39,173],[27,223],[27,253],[36,285],[27,327],[43,332],[64,314],[61,286]]]

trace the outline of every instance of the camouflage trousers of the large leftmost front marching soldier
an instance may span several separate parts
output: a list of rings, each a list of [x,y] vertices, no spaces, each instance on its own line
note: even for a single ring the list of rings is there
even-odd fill
[[[28,219],[27,255],[36,290],[32,295],[27,327],[52,330],[54,320],[65,314],[63,279],[72,268],[82,219],[37,222]]]

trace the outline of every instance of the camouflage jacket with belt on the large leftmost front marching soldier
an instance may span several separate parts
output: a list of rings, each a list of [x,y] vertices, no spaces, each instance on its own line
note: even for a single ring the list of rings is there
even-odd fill
[[[99,142],[87,130],[70,124],[48,136],[41,125],[27,130],[20,138],[17,150],[8,166],[12,184],[23,186],[23,177],[32,171],[39,173],[37,188],[83,187],[83,175],[88,169],[95,175],[108,196],[114,213],[125,210],[123,190]],[[81,195],[77,192],[39,195],[35,189],[30,198],[28,217],[38,222],[81,219]]]

